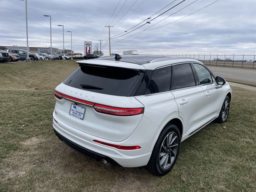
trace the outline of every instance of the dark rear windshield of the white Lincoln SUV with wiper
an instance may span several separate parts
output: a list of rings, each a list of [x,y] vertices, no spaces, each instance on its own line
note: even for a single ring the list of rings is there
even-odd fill
[[[74,88],[92,92],[133,96],[145,71],[112,66],[82,65],[63,82]]]

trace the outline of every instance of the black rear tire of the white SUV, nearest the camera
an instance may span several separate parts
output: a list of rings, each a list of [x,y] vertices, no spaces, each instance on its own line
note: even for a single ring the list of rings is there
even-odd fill
[[[174,144],[177,146],[173,147],[172,150],[168,149],[166,151],[166,155],[162,155],[162,157],[160,157],[160,154],[164,153],[164,151],[161,152],[161,150],[163,149],[162,144],[164,145],[167,135],[170,136],[171,134],[173,134],[172,136],[176,136],[174,142],[171,144]],[[168,137],[167,137],[167,140],[168,140]],[[171,140],[172,140],[172,138],[171,138]],[[170,146],[170,145],[168,145],[168,146]],[[172,159],[171,153],[174,152],[174,150],[175,150],[176,154],[173,153],[173,154],[175,154],[175,156],[174,156],[174,159]],[[174,164],[178,158],[179,150],[180,150],[180,131],[175,124],[168,124],[162,130],[162,132],[160,133],[160,135],[158,137],[158,140],[156,141],[156,144],[152,151],[150,160],[147,164],[148,171],[151,174],[156,175],[156,176],[163,176],[163,175],[167,174],[168,172],[170,172],[170,170],[172,169],[172,167],[174,166]],[[169,155],[168,151],[170,152],[170,158],[168,156]],[[166,157],[167,161],[169,161],[169,159],[170,159],[170,164],[168,164],[168,167],[166,167],[166,168],[162,168],[162,165],[161,165],[161,161],[163,160],[164,156],[168,156],[168,158]],[[161,160],[160,160],[160,158],[161,158]]]

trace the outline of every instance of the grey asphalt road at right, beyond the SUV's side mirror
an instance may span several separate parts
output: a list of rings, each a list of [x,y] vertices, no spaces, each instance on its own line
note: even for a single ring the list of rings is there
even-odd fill
[[[229,67],[214,67],[207,66],[215,76],[223,78],[230,78],[235,80],[242,80],[248,82],[256,82],[256,70],[253,69],[241,69],[241,68],[229,68]]]

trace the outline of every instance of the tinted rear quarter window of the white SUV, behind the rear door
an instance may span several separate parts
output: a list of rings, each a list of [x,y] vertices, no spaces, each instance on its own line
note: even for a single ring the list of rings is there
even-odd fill
[[[148,84],[145,94],[170,91],[172,67],[156,69]]]

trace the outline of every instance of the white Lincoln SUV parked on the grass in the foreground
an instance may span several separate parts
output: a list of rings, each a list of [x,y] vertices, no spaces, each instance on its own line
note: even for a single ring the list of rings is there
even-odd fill
[[[196,59],[116,54],[77,63],[55,89],[54,131],[105,164],[162,176],[180,142],[228,117],[230,85]]]

